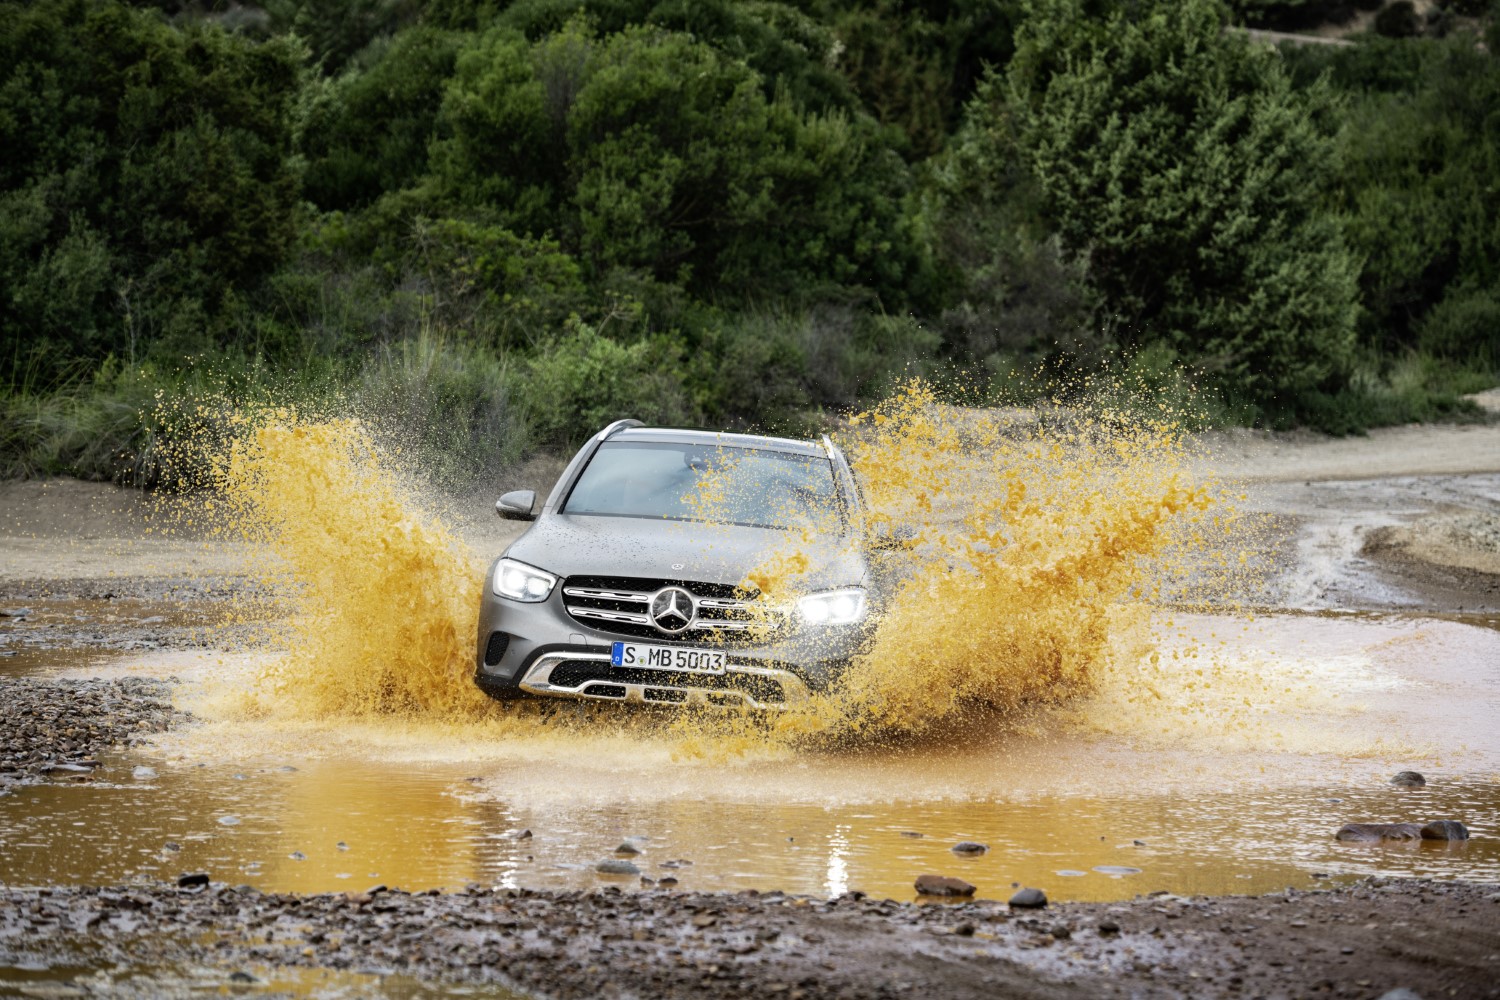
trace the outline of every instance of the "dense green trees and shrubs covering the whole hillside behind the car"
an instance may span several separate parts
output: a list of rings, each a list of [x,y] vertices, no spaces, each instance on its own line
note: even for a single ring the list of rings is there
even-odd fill
[[[1396,0],[0,3],[0,472],[160,402],[452,471],[909,373],[1464,417],[1500,367],[1500,30]]]

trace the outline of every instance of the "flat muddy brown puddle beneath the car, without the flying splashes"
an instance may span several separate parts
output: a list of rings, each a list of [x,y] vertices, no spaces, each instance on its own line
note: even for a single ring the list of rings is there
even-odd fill
[[[207,871],[266,891],[358,892],[634,888],[644,876],[910,898],[915,876],[942,873],[987,898],[1018,883],[1054,900],[1362,874],[1500,882],[1494,621],[1178,616],[1156,628],[1162,663],[1184,658],[1132,667],[1154,670],[1142,675],[1149,697],[1126,672],[1070,712],[848,753],[684,756],[670,733],[612,712],[573,720],[572,706],[540,727],[210,720],[154,753],[106,759],[90,784],[0,799],[0,880]],[[254,663],[166,669],[189,678],[192,705]],[[1392,789],[1407,768],[1428,787]],[[1473,840],[1334,840],[1344,823],[1436,819],[1462,820]],[[958,856],[958,841],[988,850]],[[602,876],[604,859],[639,874]]]

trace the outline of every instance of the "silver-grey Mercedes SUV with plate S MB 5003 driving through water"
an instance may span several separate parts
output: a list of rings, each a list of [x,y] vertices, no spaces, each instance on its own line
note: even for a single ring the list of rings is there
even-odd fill
[[[711,514],[694,502],[705,492]],[[518,490],[495,504],[534,522],[480,604],[476,682],[496,699],[778,708],[868,639],[860,493],[828,438],[620,420],[536,502]],[[748,576],[792,540],[796,594],[762,595]]]

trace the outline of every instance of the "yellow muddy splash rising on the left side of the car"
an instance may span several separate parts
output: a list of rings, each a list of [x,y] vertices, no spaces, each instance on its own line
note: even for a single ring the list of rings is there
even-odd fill
[[[267,414],[213,463],[225,529],[266,546],[296,613],[262,706],[304,715],[476,717],[478,580],[357,420]],[[214,501],[207,501],[213,504]],[[272,582],[272,580],[268,580]]]

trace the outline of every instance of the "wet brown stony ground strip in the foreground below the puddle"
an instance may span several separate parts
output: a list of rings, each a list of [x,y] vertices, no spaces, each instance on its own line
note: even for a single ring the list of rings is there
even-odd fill
[[[192,882],[190,879],[188,882]],[[393,973],[572,997],[1500,997],[1496,886],[1016,910],[858,894],[0,889],[0,964]],[[262,973],[264,975],[264,973]]]

